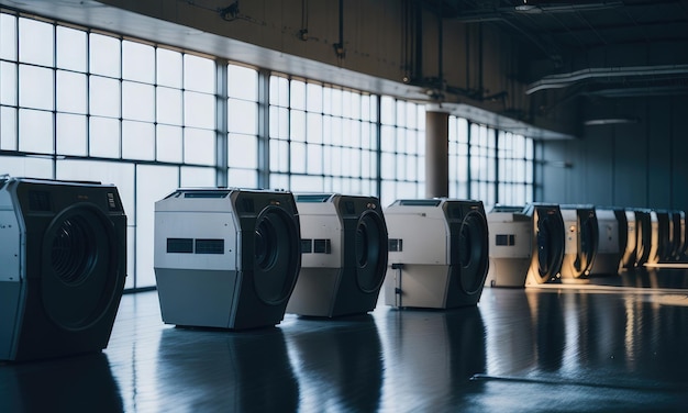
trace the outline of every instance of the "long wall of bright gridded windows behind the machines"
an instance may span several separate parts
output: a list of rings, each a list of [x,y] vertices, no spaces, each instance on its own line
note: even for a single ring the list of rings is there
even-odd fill
[[[425,107],[0,13],[0,174],[118,186],[126,288],[177,187],[424,197]],[[532,200],[532,139],[450,116],[450,197]]]

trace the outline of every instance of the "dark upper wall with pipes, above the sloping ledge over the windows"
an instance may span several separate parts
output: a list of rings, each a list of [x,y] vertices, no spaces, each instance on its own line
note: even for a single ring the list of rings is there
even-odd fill
[[[340,0],[101,2],[400,85],[431,89],[439,79],[446,101],[530,113],[515,76],[517,41],[487,24],[439,19],[420,1],[346,0],[342,13]],[[232,4],[237,9],[228,10]],[[233,58],[231,51],[220,57]],[[297,75],[346,86],[346,79]]]

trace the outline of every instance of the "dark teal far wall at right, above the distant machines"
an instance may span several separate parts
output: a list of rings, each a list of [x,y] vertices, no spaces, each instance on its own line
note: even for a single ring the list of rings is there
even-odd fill
[[[580,138],[537,143],[535,199],[544,202],[688,210],[688,97],[597,99]]]

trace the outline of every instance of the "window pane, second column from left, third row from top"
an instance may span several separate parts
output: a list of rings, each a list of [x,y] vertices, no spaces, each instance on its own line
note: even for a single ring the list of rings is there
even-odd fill
[[[53,113],[27,109],[19,111],[19,150],[53,153]]]

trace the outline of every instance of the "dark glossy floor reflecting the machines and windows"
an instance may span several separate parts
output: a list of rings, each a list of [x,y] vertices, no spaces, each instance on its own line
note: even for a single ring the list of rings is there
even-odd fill
[[[0,412],[685,412],[686,288],[663,268],[246,332],[126,294],[102,354],[0,365]]]

